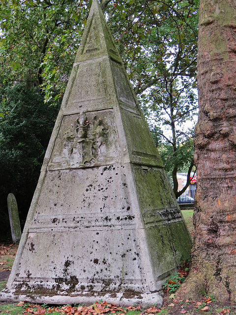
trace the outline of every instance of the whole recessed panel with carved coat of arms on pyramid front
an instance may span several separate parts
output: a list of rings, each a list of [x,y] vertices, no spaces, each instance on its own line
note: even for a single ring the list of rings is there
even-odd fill
[[[119,159],[113,110],[64,116],[49,169],[89,167]]]

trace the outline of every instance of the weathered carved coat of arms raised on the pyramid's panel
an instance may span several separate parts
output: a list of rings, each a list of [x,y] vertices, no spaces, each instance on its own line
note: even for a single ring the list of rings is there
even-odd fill
[[[63,168],[92,166],[106,153],[106,134],[109,129],[96,116],[89,121],[82,113],[63,135],[63,150],[59,162]]]

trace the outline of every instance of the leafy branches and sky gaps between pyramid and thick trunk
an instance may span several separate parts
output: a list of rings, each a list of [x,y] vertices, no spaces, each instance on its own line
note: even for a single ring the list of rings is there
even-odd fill
[[[193,157],[198,6],[198,0],[123,0],[111,1],[107,8],[108,23],[175,192],[177,171],[188,171]],[[185,127],[188,121],[190,129]]]

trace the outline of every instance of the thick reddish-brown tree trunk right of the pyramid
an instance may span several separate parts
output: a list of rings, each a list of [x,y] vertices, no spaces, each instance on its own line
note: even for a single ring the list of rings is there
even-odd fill
[[[200,0],[192,267],[177,298],[236,302],[236,1]]]

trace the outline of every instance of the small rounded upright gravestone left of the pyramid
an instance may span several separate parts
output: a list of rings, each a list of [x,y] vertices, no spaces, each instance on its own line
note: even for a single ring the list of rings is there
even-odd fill
[[[7,196],[7,207],[11,226],[12,241],[14,244],[19,244],[21,240],[21,225],[17,202],[13,193],[9,193]]]

